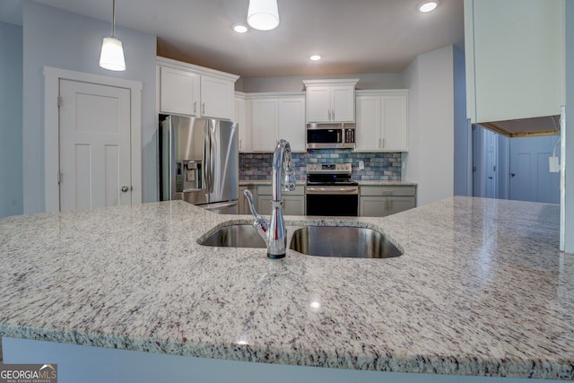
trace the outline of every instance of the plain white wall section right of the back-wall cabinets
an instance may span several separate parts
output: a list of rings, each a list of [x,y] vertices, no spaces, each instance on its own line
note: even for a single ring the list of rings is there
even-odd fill
[[[409,88],[409,152],[403,179],[418,183],[417,205],[453,196],[454,53],[453,47],[419,55],[404,70]]]

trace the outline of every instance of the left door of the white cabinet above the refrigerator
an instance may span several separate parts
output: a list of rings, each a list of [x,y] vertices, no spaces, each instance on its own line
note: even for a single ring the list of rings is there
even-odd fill
[[[161,113],[197,116],[199,111],[199,77],[198,74],[161,66]]]

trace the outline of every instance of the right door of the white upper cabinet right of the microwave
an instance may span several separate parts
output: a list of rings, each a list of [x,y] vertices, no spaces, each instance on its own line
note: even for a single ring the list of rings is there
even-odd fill
[[[385,151],[406,152],[408,133],[407,97],[382,96],[382,148]]]

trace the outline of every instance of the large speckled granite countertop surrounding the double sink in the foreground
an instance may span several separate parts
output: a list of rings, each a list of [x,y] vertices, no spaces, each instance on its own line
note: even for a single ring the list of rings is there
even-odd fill
[[[387,259],[196,243],[247,215],[181,201],[0,220],[0,335],[355,370],[574,379],[559,206],[453,197],[385,218]],[[310,302],[319,302],[320,306]]]

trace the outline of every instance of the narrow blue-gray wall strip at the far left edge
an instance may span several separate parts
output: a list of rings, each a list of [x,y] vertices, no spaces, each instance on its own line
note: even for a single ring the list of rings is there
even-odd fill
[[[0,22],[0,218],[22,214],[22,28]]]

